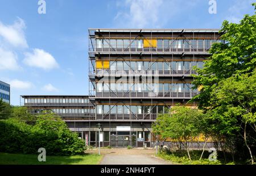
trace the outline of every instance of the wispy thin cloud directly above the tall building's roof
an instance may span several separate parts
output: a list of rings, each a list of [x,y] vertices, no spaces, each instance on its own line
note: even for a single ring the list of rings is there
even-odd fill
[[[126,0],[117,1],[116,26],[125,28],[160,28],[172,18],[199,3],[180,0]],[[181,10],[182,9],[182,10]]]

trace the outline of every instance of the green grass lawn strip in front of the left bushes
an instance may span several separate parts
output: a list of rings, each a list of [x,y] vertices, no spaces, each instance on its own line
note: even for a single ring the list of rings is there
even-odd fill
[[[35,154],[0,153],[0,165],[97,165],[101,158],[98,154],[46,156],[46,162],[39,162]]]

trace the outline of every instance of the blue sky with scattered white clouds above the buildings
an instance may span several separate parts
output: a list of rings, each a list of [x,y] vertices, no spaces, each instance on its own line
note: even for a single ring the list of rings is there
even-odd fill
[[[19,95],[88,94],[88,28],[220,28],[254,14],[253,0],[0,0],[0,80]]]

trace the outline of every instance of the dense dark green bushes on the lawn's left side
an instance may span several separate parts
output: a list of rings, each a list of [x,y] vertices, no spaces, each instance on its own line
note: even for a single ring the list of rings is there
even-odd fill
[[[48,155],[62,156],[81,154],[86,149],[77,133],[52,112],[39,115],[35,125],[15,118],[0,121],[1,152],[35,154],[39,148],[45,148]]]

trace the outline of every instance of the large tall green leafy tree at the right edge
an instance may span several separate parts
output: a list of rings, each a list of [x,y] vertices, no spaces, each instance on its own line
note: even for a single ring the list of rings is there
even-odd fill
[[[256,9],[256,3],[253,3]],[[210,111],[212,128],[228,139],[239,135],[249,150],[255,133],[255,68],[256,15],[245,15],[240,23],[224,21],[220,30],[225,43],[210,48],[212,56],[203,69],[196,69],[194,88],[201,86],[200,94],[192,101],[199,108]],[[250,128],[250,129],[249,129]],[[250,134],[250,136],[248,136]],[[239,141],[237,139],[237,141]]]

